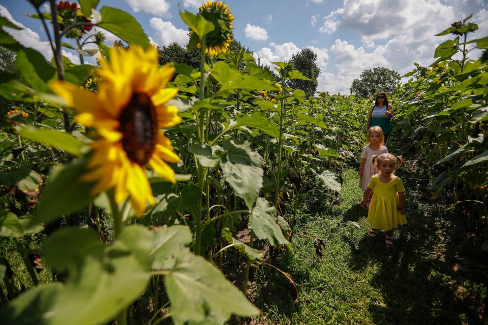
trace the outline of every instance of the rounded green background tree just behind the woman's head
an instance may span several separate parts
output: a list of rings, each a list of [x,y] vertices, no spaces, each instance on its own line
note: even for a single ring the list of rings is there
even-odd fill
[[[373,68],[364,70],[359,79],[354,79],[351,93],[362,98],[370,98],[378,91],[385,91],[391,95],[399,83],[400,74],[398,72],[387,68]]]

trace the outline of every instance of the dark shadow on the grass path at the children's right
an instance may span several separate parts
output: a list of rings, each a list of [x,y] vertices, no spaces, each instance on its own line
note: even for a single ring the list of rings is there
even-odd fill
[[[482,323],[479,311],[473,308],[476,301],[468,303],[456,295],[457,288],[452,280],[456,273],[445,259],[450,253],[446,248],[455,246],[452,242],[454,230],[446,224],[445,207],[419,201],[420,194],[409,186],[413,182],[408,175],[402,175],[404,173],[399,176],[406,183],[408,224],[395,231],[395,247],[384,246],[384,232],[375,239],[365,234],[357,248],[351,245],[352,269],[360,271],[371,264],[380,266],[371,283],[381,291],[384,304],[370,303],[374,322]],[[444,232],[442,237],[439,236],[441,231]],[[446,242],[440,243],[440,238]]]

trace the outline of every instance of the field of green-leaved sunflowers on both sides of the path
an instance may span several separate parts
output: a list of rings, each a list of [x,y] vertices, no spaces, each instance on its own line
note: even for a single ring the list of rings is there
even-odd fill
[[[0,236],[11,252],[0,259],[2,323],[237,323],[260,313],[247,299],[251,267],[296,291],[276,259],[293,251],[303,201],[337,200],[370,100],[306,98],[288,82],[310,79],[290,63],[273,62],[275,78],[230,51],[234,16],[222,2],[180,12],[200,69],[160,66],[124,11],[49,0],[46,14],[44,2],[29,5],[50,62],[0,28],[18,70],[0,76]],[[467,20],[440,34],[456,37],[431,67],[406,75],[392,103],[395,132],[433,196],[483,238],[488,74],[467,46],[488,44],[468,40],[476,24]],[[0,25],[20,28],[5,17]],[[94,26],[129,46],[106,46]],[[84,64],[94,55],[98,67]]]

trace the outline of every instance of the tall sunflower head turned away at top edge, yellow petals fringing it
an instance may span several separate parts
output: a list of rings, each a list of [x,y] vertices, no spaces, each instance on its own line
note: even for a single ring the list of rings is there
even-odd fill
[[[232,42],[232,28],[234,28],[232,23],[234,16],[229,8],[222,1],[209,1],[200,7],[200,14],[215,27],[207,34],[205,54],[216,56],[227,52]],[[190,34],[193,34],[193,30]],[[198,43],[197,48],[200,47],[201,44]]]

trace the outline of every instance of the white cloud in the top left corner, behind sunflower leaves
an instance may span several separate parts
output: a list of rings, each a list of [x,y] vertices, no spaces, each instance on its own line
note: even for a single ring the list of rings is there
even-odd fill
[[[7,31],[15,40],[17,40],[17,42],[19,42],[21,45],[25,47],[33,48],[39,51],[44,56],[44,58],[48,61],[52,59],[53,54],[49,42],[41,41],[41,37],[37,32],[33,31],[31,28],[26,28],[23,24],[16,21],[12,17],[8,9],[2,5],[0,5],[0,16],[7,18],[13,24],[23,28],[17,30],[5,26],[3,27],[5,31]],[[62,50],[62,53],[64,56],[69,58],[73,63],[76,64],[80,63],[80,58],[77,54],[75,55],[72,52],[68,52],[65,50]]]

